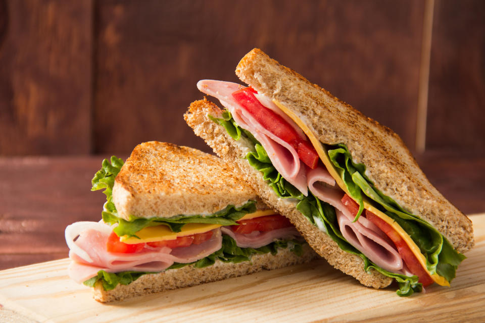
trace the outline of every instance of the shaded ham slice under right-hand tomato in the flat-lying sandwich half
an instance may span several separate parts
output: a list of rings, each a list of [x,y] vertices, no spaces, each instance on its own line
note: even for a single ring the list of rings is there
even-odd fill
[[[222,227],[222,233],[236,241],[240,248],[259,248],[270,244],[277,239],[294,239],[300,237],[295,227],[287,227],[267,232],[253,231],[249,234],[240,234],[232,231],[231,227]]]

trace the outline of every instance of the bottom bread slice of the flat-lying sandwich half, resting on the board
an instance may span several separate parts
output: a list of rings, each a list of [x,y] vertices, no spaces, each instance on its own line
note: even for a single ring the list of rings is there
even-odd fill
[[[293,264],[308,262],[316,257],[315,252],[308,244],[304,244],[302,247],[302,256],[297,256],[286,248],[278,249],[278,253],[274,256],[271,253],[255,254],[251,257],[250,261],[239,263],[216,260],[215,264],[204,268],[196,268],[193,265],[188,265],[163,273],[143,275],[136,281],[128,285],[118,285],[111,291],[105,291],[101,282],[98,282],[93,288],[93,298],[103,303],[120,301],[136,296],[248,275],[265,269],[282,268]]]

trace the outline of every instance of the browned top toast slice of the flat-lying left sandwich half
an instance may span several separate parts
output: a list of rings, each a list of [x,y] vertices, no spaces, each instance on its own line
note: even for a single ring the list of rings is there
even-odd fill
[[[217,156],[170,143],[137,145],[115,179],[113,202],[121,218],[208,215],[227,205],[258,201],[233,167]],[[259,203],[262,208],[262,203]]]

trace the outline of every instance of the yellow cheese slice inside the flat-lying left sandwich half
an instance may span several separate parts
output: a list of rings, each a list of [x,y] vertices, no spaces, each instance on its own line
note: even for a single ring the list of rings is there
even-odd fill
[[[273,210],[257,210],[254,213],[246,214],[243,218],[239,220],[254,219],[254,218],[269,216],[271,214],[275,214],[275,212]],[[168,226],[160,225],[160,226],[147,227],[147,228],[141,229],[136,233],[136,236],[139,239],[136,237],[122,236],[120,237],[120,241],[127,244],[136,244],[136,243],[163,241],[163,240],[175,240],[178,237],[189,236],[197,233],[204,233],[219,227],[221,227],[221,225],[218,225],[218,224],[187,223],[182,227],[182,231],[172,232],[172,230],[170,230]]]

